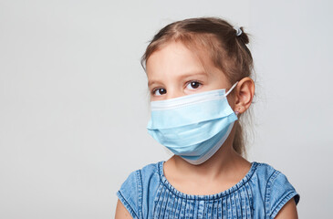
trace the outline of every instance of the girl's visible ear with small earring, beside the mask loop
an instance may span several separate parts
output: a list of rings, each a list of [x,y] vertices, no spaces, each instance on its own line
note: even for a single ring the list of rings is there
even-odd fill
[[[234,111],[244,113],[251,105],[255,95],[255,82],[252,78],[242,78],[234,93]]]

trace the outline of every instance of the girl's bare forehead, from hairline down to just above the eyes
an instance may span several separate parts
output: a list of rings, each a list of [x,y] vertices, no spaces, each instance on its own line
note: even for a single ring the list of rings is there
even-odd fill
[[[154,51],[147,60],[146,71],[149,85],[187,79],[227,80],[208,56],[199,56],[182,43],[171,43]]]

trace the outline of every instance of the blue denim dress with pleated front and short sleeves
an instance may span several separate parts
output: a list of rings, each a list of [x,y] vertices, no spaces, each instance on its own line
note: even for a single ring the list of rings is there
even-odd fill
[[[181,193],[163,173],[163,163],[131,172],[117,193],[133,218],[274,218],[299,195],[286,176],[265,163],[253,162],[230,189],[210,195]]]

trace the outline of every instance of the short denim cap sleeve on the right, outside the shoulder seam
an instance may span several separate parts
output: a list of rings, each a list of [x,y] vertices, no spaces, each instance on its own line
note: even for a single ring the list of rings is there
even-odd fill
[[[274,172],[266,186],[265,210],[269,218],[275,218],[281,208],[294,198],[296,204],[299,202],[299,194],[281,172]]]

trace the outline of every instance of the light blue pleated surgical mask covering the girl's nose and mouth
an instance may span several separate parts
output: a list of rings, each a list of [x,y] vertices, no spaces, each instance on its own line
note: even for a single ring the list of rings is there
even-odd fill
[[[237,120],[226,99],[237,83],[227,93],[216,89],[152,101],[148,132],[187,162],[207,161],[223,145]]]

